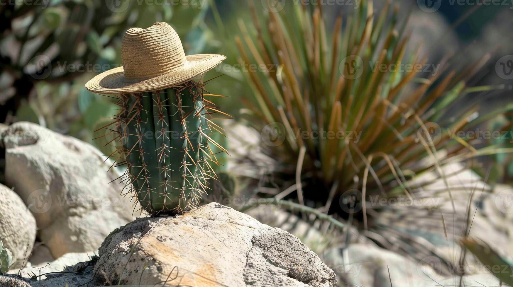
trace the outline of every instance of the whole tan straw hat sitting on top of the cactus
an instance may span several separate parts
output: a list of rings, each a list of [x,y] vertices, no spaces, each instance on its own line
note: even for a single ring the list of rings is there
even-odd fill
[[[98,94],[157,91],[185,83],[221,63],[226,56],[186,56],[171,26],[157,22],[147,29],[131,28],[121,45],[123,67],[95,76],[86,89]]]

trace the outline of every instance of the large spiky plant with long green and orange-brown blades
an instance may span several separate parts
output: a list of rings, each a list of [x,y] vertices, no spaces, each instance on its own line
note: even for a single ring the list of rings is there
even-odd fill
[[[453,135],[498,111],[477,118],[478,107],[450,109],[469,93],[502,88],[467,86],[488,55],[455,67],[461,72],[447,70],[448,57],[437,73],[394,69],[424,68],[427,61],[408,45],[407,21],[399,19],[398,7],[387,3],[374,14],[372,2],[362,1],[334,23],[322,9],[301,2],[262,16],[252,7],[252,24],[240,20],[242,36],[235,39],[241,64],[274,67],[248,69],[253,97],[246,104],[263,135],[268,131],[279,140],[266,149],[290,179],[280,182],[283,189],[295,184],[297,193],[288,192],[288,198],[347,214],[331,204],[346,191],[360,190],[364,200],[372,194],[411,196],[407,182],[415,175],[497,152],[477,150],[471,145],[475,138]]]

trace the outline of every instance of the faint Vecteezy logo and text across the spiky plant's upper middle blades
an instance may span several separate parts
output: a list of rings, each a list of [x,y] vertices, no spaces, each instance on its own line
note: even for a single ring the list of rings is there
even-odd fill
[[[357,79],[362,76],[364,61],[358,55],[349,55],[342,59],[339,64],[339,71],[346,79]],[[400,63],[400,64],[379,64],[376,61],[368,62],[370,70],[373,73],[376,72],[390,72],[390,73],[429,73],[436,75],[441,68],[441,64],[411,64],[411,63]]]

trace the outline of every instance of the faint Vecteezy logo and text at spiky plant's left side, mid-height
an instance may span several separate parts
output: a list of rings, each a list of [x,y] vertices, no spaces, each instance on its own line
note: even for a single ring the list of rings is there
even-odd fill
[[[302,130],[302,129],[296,129],[292,132],[292,134],[287,135],[287,130],[285,129],[285,126],[281,122],[271,122],[267,126],[265,126],[262,129],[261,137],[264,144],[266,144],[269,147],[277,147],[283,144],[285,142],[285,139],[287,136],[290,137],[292,140],[298,140],[298,139],[339,139],[339,140],[346,140],[346,141],[352,141],[352,142],[358,142],[360,141],[360,138],[362,137],[362,131],[330,131],[325,130],[321,128],[320,130]]]

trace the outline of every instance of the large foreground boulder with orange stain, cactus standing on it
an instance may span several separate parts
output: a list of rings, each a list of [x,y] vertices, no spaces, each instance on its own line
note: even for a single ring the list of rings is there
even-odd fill
[[[141,218],[99,250],[108,284],[335,286],[336,275],[297,237],[210,203],[180,216]]]

